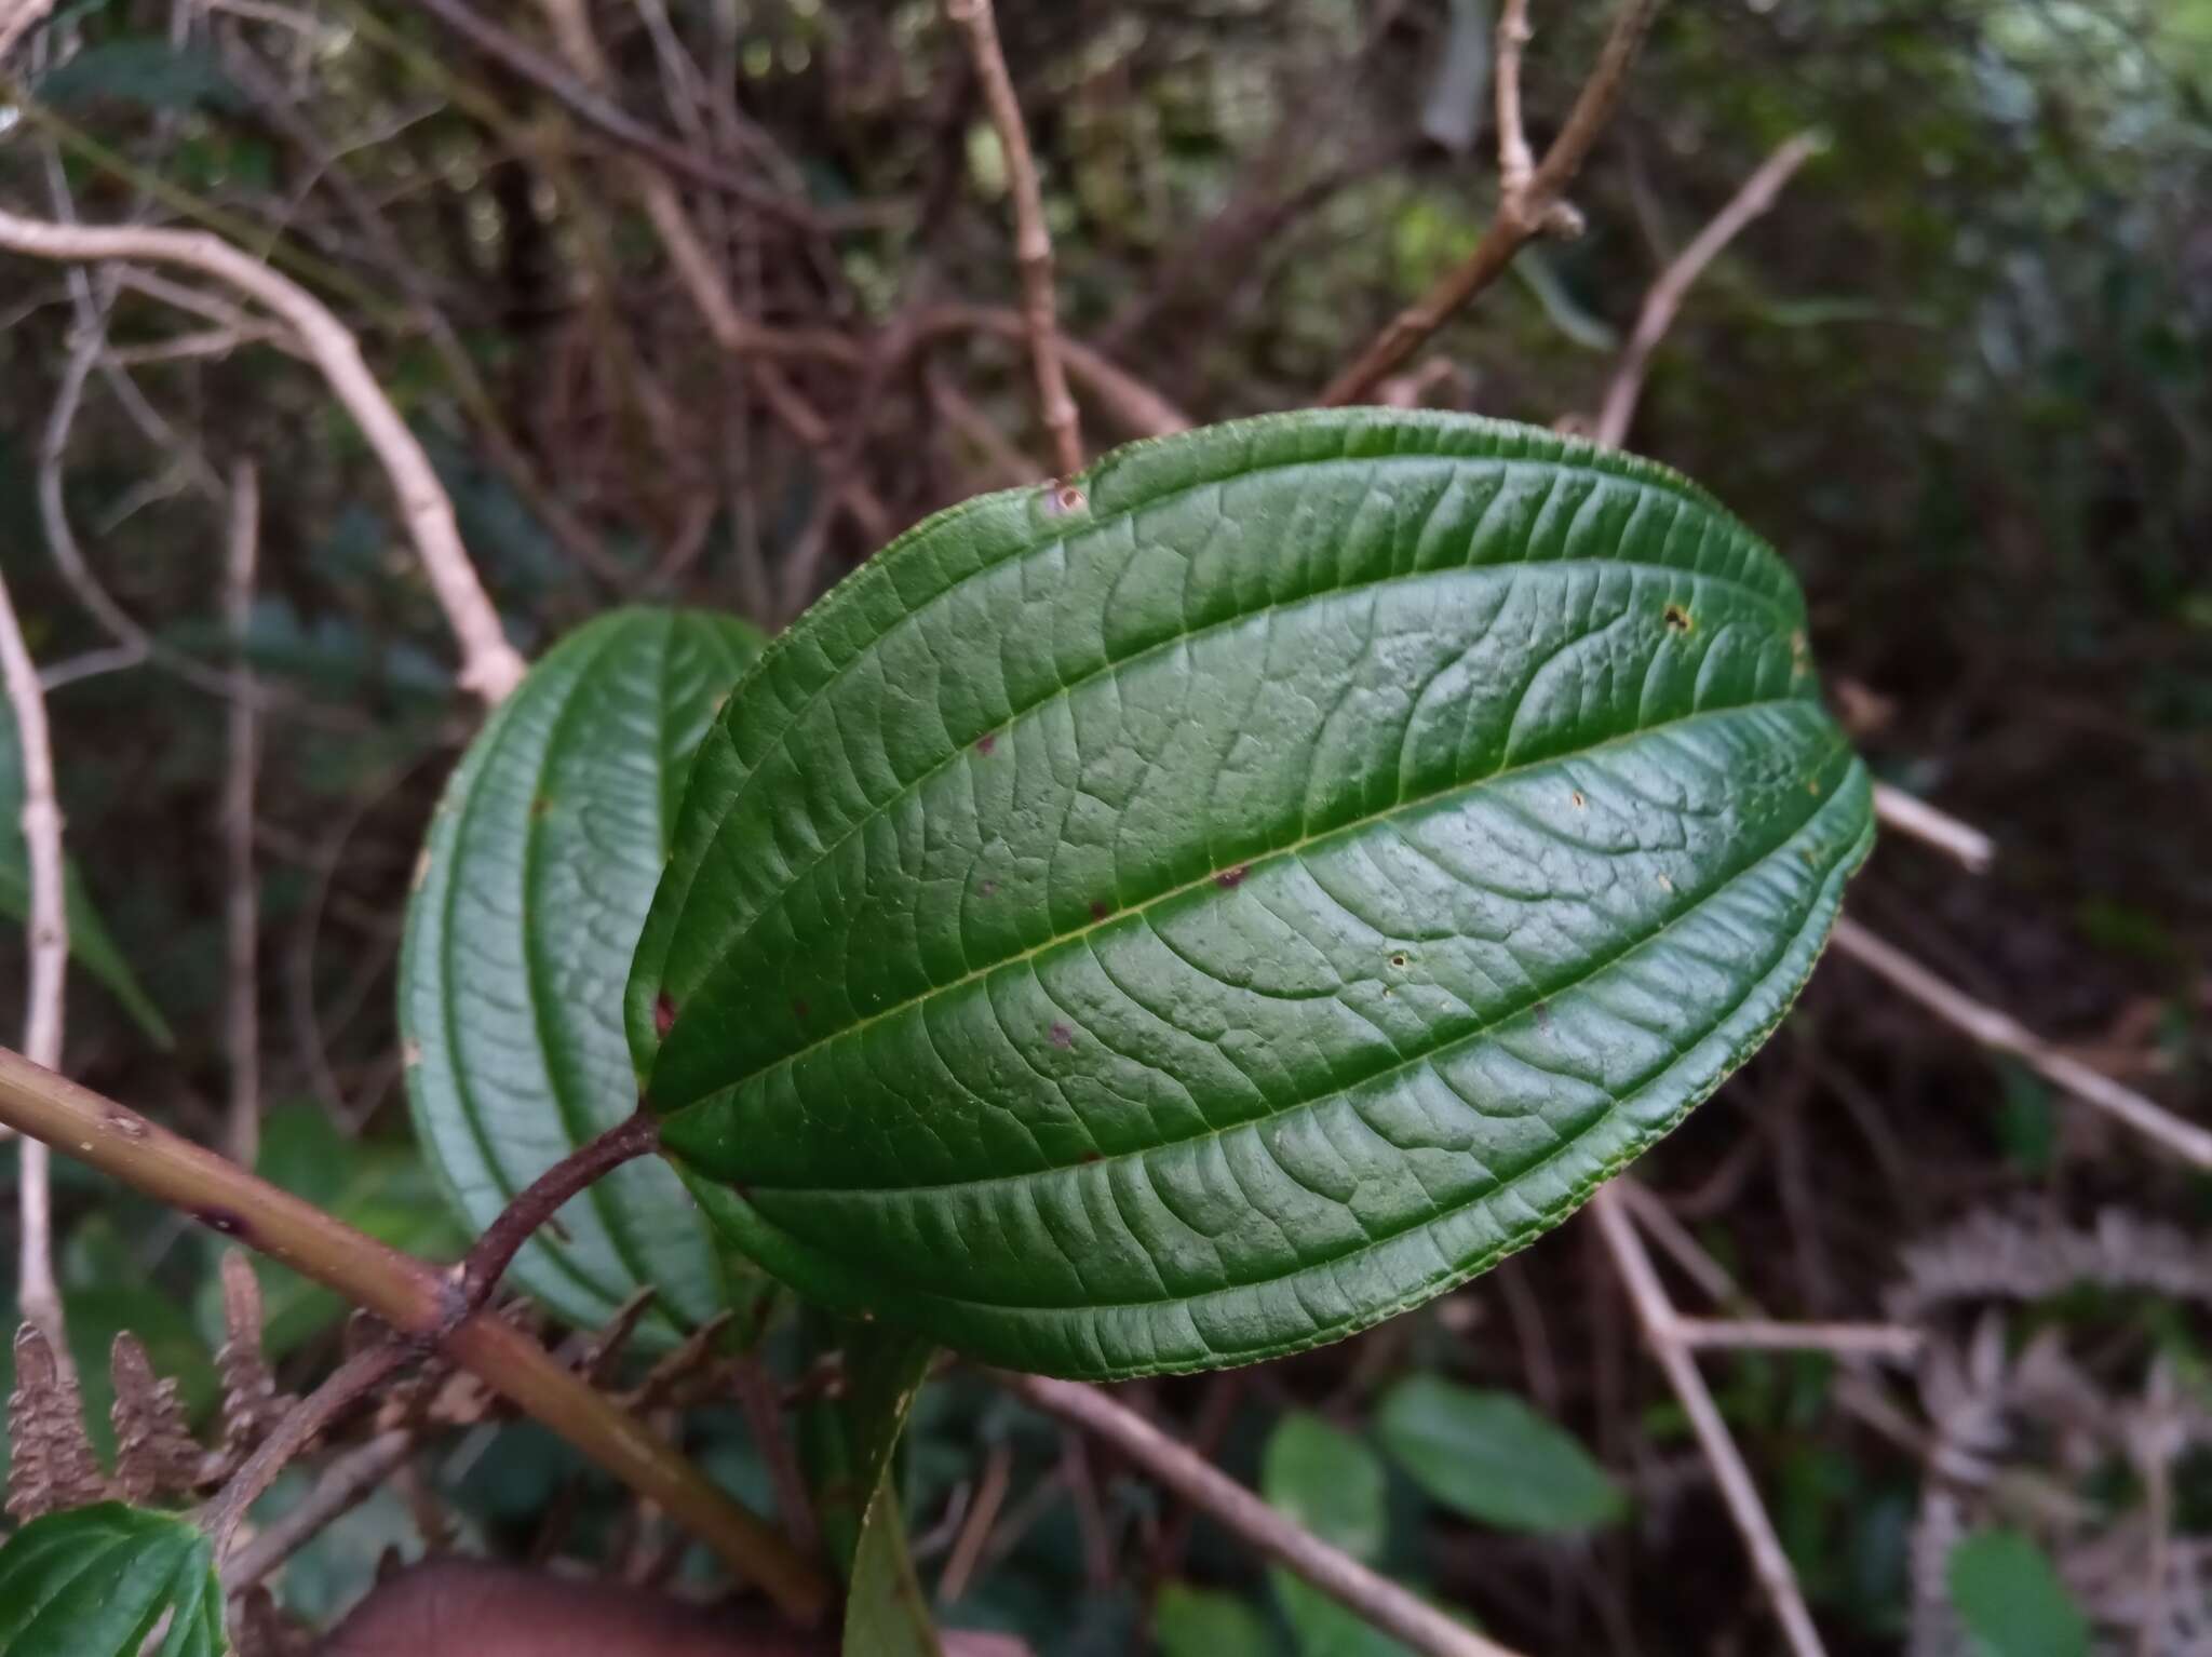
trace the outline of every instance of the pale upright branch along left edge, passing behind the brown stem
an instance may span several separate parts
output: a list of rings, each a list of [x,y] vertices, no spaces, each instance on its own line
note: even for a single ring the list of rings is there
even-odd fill
[[[22,841],[31,874],[31,905],[24,918],[29,973],[24,987],[22,1046],[49,1069],[62,1062],[62,991],[69,971],[69,909],[62,903],[62,807],[53,794],[53,737],[46,730],[46,695],[38,688],[38,666],[22,639],[15,604],[0,577],[0,679],[7,684],[22,757]],[[62,1330],[62,1294],[53,1283],[53,1177],[46,1146],[27,1139],[15,1177],[22,1239],[15,1261],[15,1310],[38,1325],[66,1374],[69,1336]]]

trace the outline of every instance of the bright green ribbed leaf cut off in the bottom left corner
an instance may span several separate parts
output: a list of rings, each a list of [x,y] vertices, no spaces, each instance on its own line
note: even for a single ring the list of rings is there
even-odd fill
[[[100,1502],[31,1520],[0,1549],[0,1653],[139,1657],[175,1613],[159,1657],[221,1657],[223,1591],[199,1526]]]

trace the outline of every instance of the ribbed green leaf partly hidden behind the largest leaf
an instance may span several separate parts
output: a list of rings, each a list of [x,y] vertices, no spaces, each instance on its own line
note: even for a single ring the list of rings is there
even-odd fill
[[[757,650],[721,615],[604,615],[531,668],[447,785],[407,909],[400,1029],[416,1130],[476,1230],[637,1108],[622,976],[690,757]],[[655,1285],[648,1343],[730,1299],[712,1228],[657,1161],[562,1208],[515,1274],[580,1325]]]

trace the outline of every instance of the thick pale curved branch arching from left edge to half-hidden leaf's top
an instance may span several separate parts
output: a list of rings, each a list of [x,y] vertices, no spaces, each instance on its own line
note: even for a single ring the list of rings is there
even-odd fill
[[[500,613],[460,544],[453,502],[398,409],[361,361],[361,341],[330,308],[290,277],[204,230],[148,226],[73,226],[0,212],[0,248],[33,259],[91,263],[137,259],[184,265],[241,290],[290,323],[330,381],[330,389],[383,462],[416,542],[431,591],[460,644],[460,681],[484,701],[500,701],[522,677],[522,655],[507,642]]]

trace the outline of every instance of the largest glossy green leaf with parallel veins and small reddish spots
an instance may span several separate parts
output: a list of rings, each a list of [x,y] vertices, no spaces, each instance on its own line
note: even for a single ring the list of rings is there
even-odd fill
[[[1243,1363],[1568,1215],[1759,1046],[1869,838],[1803,597],[1697,487],[1250,420],[940,513],[768,648],[630,1046],[801,1290]]]

